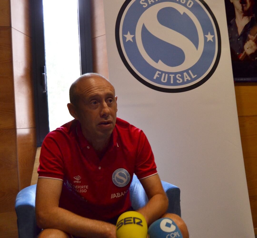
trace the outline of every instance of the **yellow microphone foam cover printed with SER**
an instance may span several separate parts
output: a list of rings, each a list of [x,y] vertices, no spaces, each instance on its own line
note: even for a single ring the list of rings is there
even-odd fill
[[[146,238],[147,223],[144,216],[135,211],[122,213],[116,224],[117,238]]]

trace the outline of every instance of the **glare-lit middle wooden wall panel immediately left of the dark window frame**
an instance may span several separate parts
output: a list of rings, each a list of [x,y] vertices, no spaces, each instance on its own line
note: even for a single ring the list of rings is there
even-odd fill
[[[35,127],[31,38],[12,29],[16,128]]]

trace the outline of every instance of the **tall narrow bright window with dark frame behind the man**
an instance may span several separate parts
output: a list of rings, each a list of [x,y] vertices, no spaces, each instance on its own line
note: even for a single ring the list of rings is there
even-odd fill
[[[69,87],[92,72],[90,1],[40,0],[32,4],[37,145],[72,120]]]

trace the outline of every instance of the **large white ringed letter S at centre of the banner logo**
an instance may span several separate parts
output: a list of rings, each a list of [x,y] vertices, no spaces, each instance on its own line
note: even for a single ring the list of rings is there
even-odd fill
[[[193,20],[193,22],[195,23],[197,33],[198,33],[198,38],[199,38],[198,49],[187,37],[183,36],[182,34],[166,26],[161,25],[158,22],[157,14],[160,11],[160,9],[164,7],[173,7],[177,9],[177,11],[179,11],[181,15],[183,13],[186,13]],[[152,60],[152,58],[146,53],[142,43],[141,34],[142,34],[143,25],[155,37],[158,37],[159,39],[166,41],[167,43],[170,43],[172,45],[175,45],[181,48],[185,54],[185,61],[181,65],[171,67],[164,64],[161,60],[159,60],[158,63]],[[197,63],[204,49],[204,33],[196,16],[191,11],[189,11],[186,7],[182,5],[178,5],[176,3],[172,3],[172,2],[159,3],[157,5],[152,6],[151,8],[148,8],[141,15],[141,17],[137,22],[135,37],[136,37],[137,47],[139,49],[140,54],[143,56],[143,58],[153,67],[166,72],[179,72],[179,71],[187,70],[188,68],[192,67],[195,63]],[[194,57],[192,57],[192,55],[194,55]]]

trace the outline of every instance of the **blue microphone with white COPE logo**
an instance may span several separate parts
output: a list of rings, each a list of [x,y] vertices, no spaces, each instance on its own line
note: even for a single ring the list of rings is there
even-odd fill
[[[183,238],[177,224],[170,218],[161,218],[148,228],[149,238]]]

